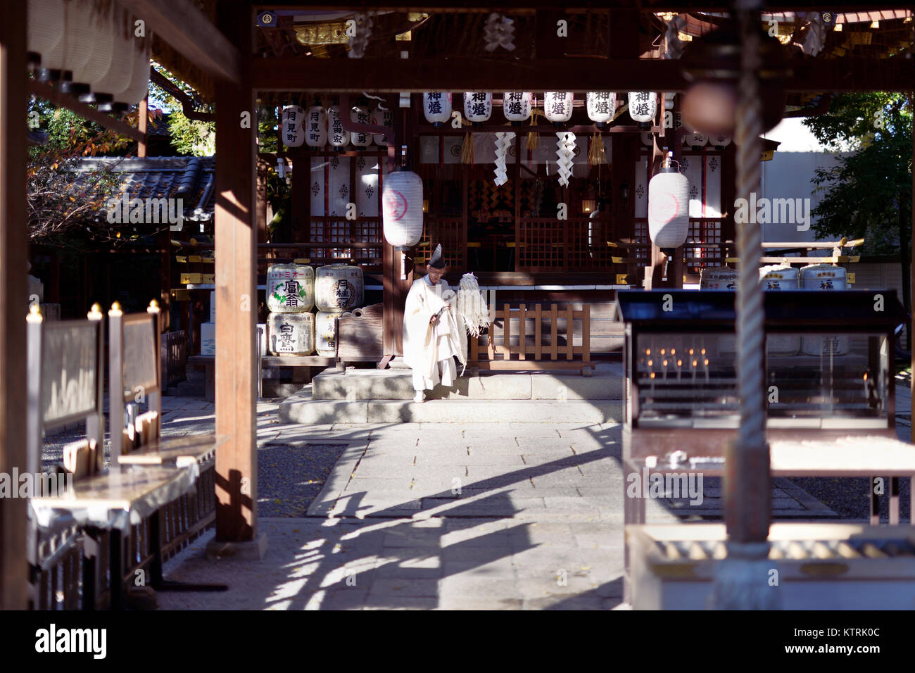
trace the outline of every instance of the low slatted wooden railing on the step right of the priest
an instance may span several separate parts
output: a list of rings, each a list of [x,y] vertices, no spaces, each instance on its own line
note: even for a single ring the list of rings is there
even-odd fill
[[[576,369],[584,376],[590,376],[594,364],[591,362],[590,307],[585,304],[581,310],[572,307],[557,309],[555,304],[549,310],[537,304],[533,310],[521,304],[517,309],[503,304],[494,311],[494,320],[489,333],[479,338],[470,337],[468,366],[480,369]],[[528,331],[527,321],[533,320],[533,331]],[[559,321],[565,320],[565,331],[559,330]],[[575,321],[581,323],[581,345],[575,345]],[[511,323],[517,324],[517,345],[512,345]],[[497,330],[501,329],[501,343],[497,343]],[[544,343],[544,337],[549,342]],[[532,341],[528,341],[532,337]],[[483,350],[480,339],[484,340]],[[564,342],[561,342],[564,340]],[[485,358],[481,355],[486,354]],[[497,356],[501,355],[501,359]],[[512,360],[511,356],[517,359]],[[577,359],[576,356],[580,356]]]

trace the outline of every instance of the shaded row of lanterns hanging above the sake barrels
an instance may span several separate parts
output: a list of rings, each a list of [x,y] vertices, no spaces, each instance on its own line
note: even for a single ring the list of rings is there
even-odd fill
[[[350,121],[356,124],[393,126],[393,111],[382,103],[369,112],[367,105],[353,105],[350,108]],[[286,147],[347,147],[350,143],[356,147],[371,147],[372,141],[386,145],[384,134],[366,133],[364,131],[345,131],[340,118],[339,105],[325,109],[320,104],[303,110],[298,105],[286,105],[280,115],[280,133]]]

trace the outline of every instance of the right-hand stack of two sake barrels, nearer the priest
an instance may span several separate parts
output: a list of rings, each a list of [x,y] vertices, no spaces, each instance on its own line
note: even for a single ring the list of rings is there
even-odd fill
[[[337,353],[337,319],[361,307],[365,282],[359,266],[331,264],[318,268],[315,280],[315,317],[318,355]]]

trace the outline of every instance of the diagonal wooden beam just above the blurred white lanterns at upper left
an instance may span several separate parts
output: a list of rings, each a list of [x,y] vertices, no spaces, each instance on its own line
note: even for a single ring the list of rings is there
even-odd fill
[[[186,0],[121,0],[151,30],[188,61],[213,77],[242,82],[242,50],[213,26],[194,3]],[[245,10],[247,3],[242,3]],[[250,51],[244,51],[250,53]]]

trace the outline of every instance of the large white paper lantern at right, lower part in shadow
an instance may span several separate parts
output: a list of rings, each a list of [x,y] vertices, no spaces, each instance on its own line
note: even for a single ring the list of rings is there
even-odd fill
[[[668,152],[648,183],[648,233],[668,256],[689,233],[689,180],[673,163],[673,152]]]

